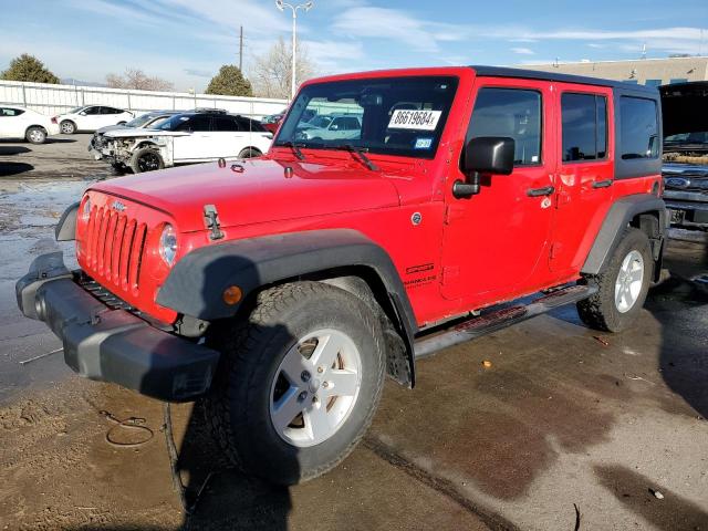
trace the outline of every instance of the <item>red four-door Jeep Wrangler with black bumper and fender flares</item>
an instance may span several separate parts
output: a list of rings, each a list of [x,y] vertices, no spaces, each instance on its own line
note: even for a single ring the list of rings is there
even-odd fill
[[[80,375],[205,397],[236,464],[306,480],[416,357],[568,303],[633,322],[664,248],[660,123],[656,90],[596,79],[313,80],[261,158],[92,185],[56,228],[81,270],[37,258],[18,303]]]

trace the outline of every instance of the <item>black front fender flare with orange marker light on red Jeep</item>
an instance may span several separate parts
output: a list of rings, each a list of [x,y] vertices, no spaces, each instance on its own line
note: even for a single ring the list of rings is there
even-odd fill
[[[289,232],[196,249],[175,264],[156,302],[204,321],[227,319],[240,306],[223,301],[228,287],[238,285],[246,300],[261,287],[352,267],[367,268],[383,283],[394,324],[406,345],[413,381],[413,341],[418,327],[410,301],[388,253],[356,230]]]

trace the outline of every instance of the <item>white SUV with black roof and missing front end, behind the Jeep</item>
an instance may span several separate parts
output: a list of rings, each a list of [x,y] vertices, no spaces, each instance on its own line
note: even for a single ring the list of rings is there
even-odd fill
[[[133,173],[219,158],[258,157],[273,135],[250,118],[219,110],[198,110],[170,116],[154,127],[105,133],[101,157]]]

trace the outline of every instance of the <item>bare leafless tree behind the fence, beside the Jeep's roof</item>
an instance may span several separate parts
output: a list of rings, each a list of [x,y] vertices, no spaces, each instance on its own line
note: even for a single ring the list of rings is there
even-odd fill
[[[298,45],[298,66],[295,81],[298,85],[315,75],[316,66],[308,55],[303,44]],[[281,37],[268,52],[256,58],[250,69],[253,93],[262,97],[290,97],[292,72],[292,46],[285,44]]]

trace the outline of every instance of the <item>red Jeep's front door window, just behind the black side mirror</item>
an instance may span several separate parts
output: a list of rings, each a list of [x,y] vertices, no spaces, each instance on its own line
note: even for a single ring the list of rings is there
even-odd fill
[[[508,136],[516,142],[514,164],[541,163],[541,94],[524,88],[481,88],[467,140]]]

